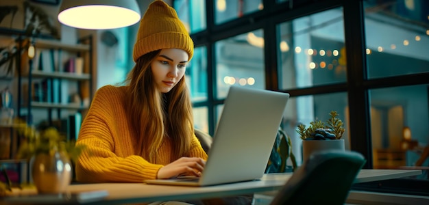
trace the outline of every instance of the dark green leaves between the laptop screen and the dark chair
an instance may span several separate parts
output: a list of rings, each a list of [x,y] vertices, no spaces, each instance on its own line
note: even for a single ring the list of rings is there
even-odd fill
[[[285,172],[286,161],[289,158],[291,158],[292,168],[295,171],[297,163],[292,152],[291,137],[286,135],[282,128],[279,127],[265,173]]]

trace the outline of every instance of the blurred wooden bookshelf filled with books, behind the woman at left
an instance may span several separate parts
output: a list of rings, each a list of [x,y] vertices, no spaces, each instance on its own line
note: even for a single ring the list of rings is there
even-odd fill
[[[21,59],[19,118],[27,124],[56,126],[76,139],[93,97],[92,37],[76,44],[34,39],[33,59]]]

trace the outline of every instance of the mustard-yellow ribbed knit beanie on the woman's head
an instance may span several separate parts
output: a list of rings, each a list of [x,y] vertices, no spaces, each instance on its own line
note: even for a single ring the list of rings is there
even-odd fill
[[[191,60],[194,54],[194,43],[177,13],[162,0],[149,5],[145,16],[140,20],[133,58],[160,49],[182,49]]]

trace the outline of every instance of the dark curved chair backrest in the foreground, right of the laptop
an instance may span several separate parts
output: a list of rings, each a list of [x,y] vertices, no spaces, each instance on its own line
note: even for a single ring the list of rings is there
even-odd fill
[[[293,173],[271,204],[344,204],[365,162],[358,152],[316,152]]]

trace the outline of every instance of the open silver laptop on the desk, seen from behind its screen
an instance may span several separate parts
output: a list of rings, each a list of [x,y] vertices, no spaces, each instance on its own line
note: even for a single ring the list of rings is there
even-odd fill
[[[265,173],[288,99],[289,94],[282,92],[230,87],[201,176],[145,182],[204,187],[259,180]]]

